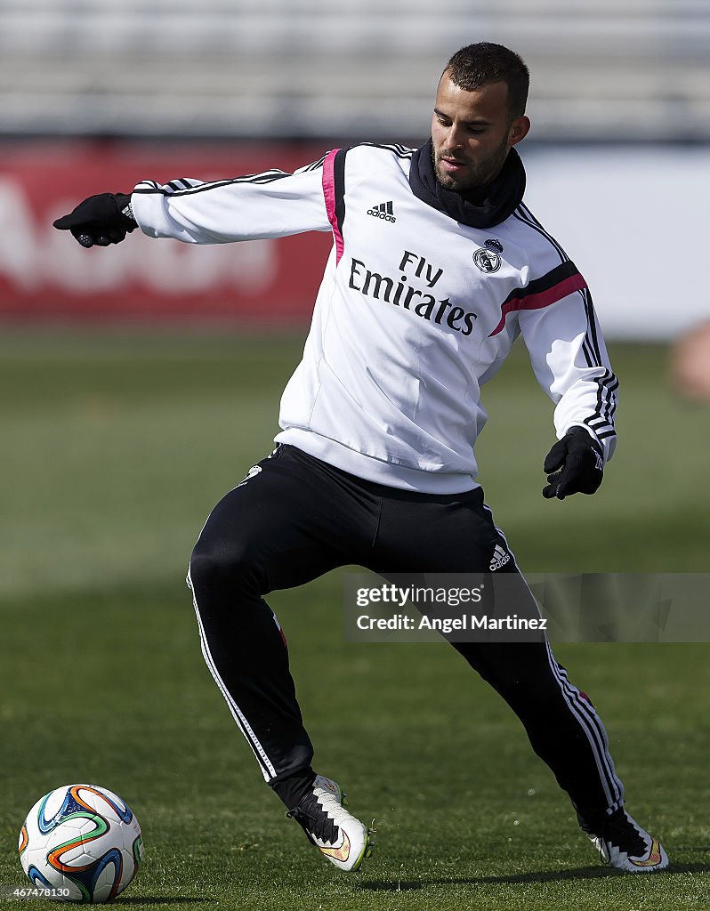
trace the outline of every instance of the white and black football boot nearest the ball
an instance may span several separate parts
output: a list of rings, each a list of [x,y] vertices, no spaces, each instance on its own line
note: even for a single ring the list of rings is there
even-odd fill
[[[286,815],[301,824],[309,841],[339,870],[357,870],[372,854],[370,830],[345,810],[339,784],[316,775],[313,787]]]

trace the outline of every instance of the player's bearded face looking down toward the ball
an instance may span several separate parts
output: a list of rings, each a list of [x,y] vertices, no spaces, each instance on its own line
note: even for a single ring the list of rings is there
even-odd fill
[[[431,121],[438,182],[457,193],[488,183],[498,176],[510,148],[529,129],[527,117],[511,121],[504,82],[490,82],[467,92],[444,73]]]

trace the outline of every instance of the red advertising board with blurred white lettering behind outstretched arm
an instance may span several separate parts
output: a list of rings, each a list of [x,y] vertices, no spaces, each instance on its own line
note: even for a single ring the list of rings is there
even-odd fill
[[[0,147],[0,317],[306,321],[330,234],[201,246],[150,240],[136,230],[117,246],[84,250],[52,221],[92,193],[130,192],[141,179],[167,183],[270,168],[292,171],[326,150],[273,143],[5,143]]]

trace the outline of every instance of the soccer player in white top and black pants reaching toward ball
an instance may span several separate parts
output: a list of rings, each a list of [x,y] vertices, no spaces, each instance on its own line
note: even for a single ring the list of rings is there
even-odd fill
[[[204,657],[264,779],[341,870],[362,864],[370,833],[312,768],[263,596],[353,563],[520,578],[474,456],[480,387],[518,335],[555,405],[542,495],[593,494],[615,445],[617,381],[590,292],[523,201],[515,147],[530,129],[528,86],[520,56],[470,45],[444,69],[421,148],[365,142],[293,174],[144,180],[55,222],[86,247],[136,227],[188,243],[332,233],[276,448],[215,507],[188,579]],[[453,644],[517,713],[602,860],[629,873],[666,866],[624,809],[602,720],[549,643]]]

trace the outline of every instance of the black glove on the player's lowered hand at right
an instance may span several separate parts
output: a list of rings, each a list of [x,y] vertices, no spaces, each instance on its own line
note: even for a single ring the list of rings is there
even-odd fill
[[[571,494],[593,494],[604,474],[602,445],[583,427],[571,427],[552,446],[542,467],[550,482],[542,490],[545,499],[556,496],[563,500]]]

